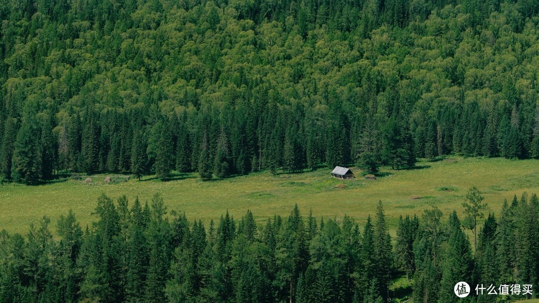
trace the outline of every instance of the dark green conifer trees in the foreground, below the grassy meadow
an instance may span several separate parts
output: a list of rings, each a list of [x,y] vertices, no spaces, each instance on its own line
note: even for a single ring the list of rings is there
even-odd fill
[[[288,217],[256,224],[253,214],[228,213],[205,227],[170,212],[156,194],[149,205],[126,196],[98,198],[91,227],[81,229],[72,212],[60,216],[57,236],[44,217],[28,234],[0,232],[0,301],[9,302],[455,302],[454,285],[539,282],[539,201],[526,194],[505,201],[499,219],[472,188],[444,219],[426,209],[400,217],[397,237],[388,234],[382,202],[362,228],[351,217],[304,217],[296,205]],[[483,222],[483,221],[482,221]],[[464,229],[476,235],[472,249]],[[475,238],[475,237],[474,237]],[[392,245],[392,242],[395,245]],[[413,278],[413,291],[390,290],[391,281]],[[506,295],[507,300],[530,295]]]

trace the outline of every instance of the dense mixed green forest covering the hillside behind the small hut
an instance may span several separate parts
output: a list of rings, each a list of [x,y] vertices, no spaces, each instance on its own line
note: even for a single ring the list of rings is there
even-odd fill
[[[539,158],[534,0],[0,3],[0,179]]]

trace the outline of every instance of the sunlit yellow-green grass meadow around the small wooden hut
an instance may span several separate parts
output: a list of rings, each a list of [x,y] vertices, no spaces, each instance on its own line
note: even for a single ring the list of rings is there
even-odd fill
[[[512,199],[522,192],[539,193],[539,161],[501,158],[452,157],[440,161],[421,161],[413,170],[391,171],[376,180],[361,178],[355,171],[354,180],[329,177],[330,169],[321,168],[300,174],[272,175],[260,172],[248,176],[201,181],[197,174],[179,174],[175,180],[162,182],[146,177],[141,181],[105,184],[94,178],[92,184],[67,180],[39,186],[7,184],[0,186],[0,229],[26,233],[30,223],[43,215],[51,217],[53,230],[60,214],[73,209],[82,226],[95,220],[91,215],[96,198],[106,193],[113,199],[126,194],[132,202],[135,196],[148,201],[161,193],[168,210],[185,212],[188,219],[218,219],[226,210],[234,217],[251,209],[257,220],[274,214],[288,215],[298,203],[303,215],[309,209],[317,217],[337,217],[344,214],[364,222],[375,214],[378,200],[384,203],[391,234],[395,234],[399,215],[421,214],[430,205],[445,214],[457,209],[466,191],[476,186],[483,192],[489,210],[499,213],[503,199]],[[96,180],[99,179],[99,180]],[[335,185],[347,184],[346,188]],[[411,199],[414,198],[419,199]]]

